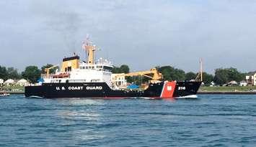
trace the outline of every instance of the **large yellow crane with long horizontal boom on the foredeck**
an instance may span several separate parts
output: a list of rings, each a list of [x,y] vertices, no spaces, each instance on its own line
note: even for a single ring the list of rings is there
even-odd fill
[[[151,78],[150,82],[159,82],[159,80],[162,79],[162,73],[158,72],[156,68],[152,68],[151,70],[148,70],[148,71],[126,73],[125,77],[131,77],[131,76],[137,76],[137,75]]]

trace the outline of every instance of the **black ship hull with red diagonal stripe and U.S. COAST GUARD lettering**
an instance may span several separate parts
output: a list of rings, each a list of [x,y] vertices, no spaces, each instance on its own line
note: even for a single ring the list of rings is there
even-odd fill
[[[26,97],[42,98],[176,98],[195,95],[201,82],[150,83],[146,90],[112,90],[105,82],[43,83],[25,87]]]

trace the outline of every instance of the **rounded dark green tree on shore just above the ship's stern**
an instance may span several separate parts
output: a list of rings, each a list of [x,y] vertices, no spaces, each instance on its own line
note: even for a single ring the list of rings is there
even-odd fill
[[[22,77],[30,82],[35,83],[40,78],[41,71],[38,69],[37,66],[28,66],[26,67],[25,71],[22,72]]]

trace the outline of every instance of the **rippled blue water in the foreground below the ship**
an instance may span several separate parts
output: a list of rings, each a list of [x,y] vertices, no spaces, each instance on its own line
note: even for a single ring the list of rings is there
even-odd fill
[[[256,95],[0,98],[0,146],[256,146]]]

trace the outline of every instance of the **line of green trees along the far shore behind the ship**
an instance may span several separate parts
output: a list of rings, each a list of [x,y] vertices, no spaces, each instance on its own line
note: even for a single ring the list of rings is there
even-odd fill
[[[7,79],[21,79],[24,78],[29,80],[29,82],[35,83],[40,79],[41,74],[45,74],[45,68],[52,67],[53,65],[47,64],[41,68],[38,68],[35,65],[30,65],[25,68],[24,71],[18,72],[14,67],[4,67],[0,65],[0,78]],[[58,69],[58,67],[50,70],[50,73],[53,73]],[[158,66],[156,69],[162,73],[163,80],[195,80],[195,77],[198,75],[196,72],[185,72],[184,70],[172,67],[172,66]],[[112,70],[113,73],[128,73],[130,68],[128,65],[121,65],[120,67],[114,67]],[[211,75],[207,72],[203,72],[203,82],[206,85],[210,85],[211,82],[215,82],[217,85],[224,85],[231,80],[240,82],[245,80],[245,76],[248,73],[239,72],[236,68],[218,68],[215,70],[214,75]],[[141,84],[149,81],[149,77],[127,77],[128,82],[135,82],[136,84]]]

